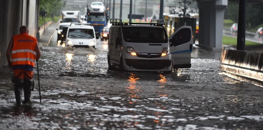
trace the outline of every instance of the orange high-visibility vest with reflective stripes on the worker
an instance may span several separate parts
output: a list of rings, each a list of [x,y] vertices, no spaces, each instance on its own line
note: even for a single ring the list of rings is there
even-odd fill
[[[12,65],[31,65],[34,67],[37,39],[27,33],[13,36],[13,48],[11,52]]]

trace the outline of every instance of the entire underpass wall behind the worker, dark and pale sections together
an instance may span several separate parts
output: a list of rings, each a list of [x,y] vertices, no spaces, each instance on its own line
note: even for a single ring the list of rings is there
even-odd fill
[[[7,64],[6,50],[13,35],[19,34],[19,27],[27,25],[29,35],[38,32],[39,0],[0,0],[0,68]]]

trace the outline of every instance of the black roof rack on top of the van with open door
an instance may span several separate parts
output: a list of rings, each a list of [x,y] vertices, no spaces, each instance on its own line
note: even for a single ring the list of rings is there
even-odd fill
[[[129,23],[129,22],[122,22],[121,19],[111,19],[110,23],[112,25],[127,25],[127,24],[165,25],[164,20],[157,20],[157,19],[152,19],[150,23]]]

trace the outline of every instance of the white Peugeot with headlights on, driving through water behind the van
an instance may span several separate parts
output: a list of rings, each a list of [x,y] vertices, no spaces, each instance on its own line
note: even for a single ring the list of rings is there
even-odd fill
[[[96,48],[97,42],[96,39],[99,39],[98,36],[95,37],[95,30],[90,23],[81,24],[81,23],[72,23],[68,27],[66,35],[66,46],[72,47],[90,47]]]

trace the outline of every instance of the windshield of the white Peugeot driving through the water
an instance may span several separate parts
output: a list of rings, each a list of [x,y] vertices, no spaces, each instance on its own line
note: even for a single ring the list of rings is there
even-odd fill
[[[94,38],[92,29],[69,29],[69,38]]]

